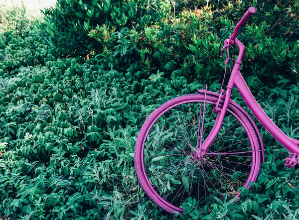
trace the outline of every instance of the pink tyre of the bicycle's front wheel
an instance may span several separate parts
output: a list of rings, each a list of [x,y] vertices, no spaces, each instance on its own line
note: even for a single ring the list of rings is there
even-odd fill
[[[159,207],[161,207],[163,210],[169,212],[169,213],[178,213],[182,214],[183,209],[181,209],[178,206],[174,206],[170,204],[168,201],[166,201],[162,196],[160,196],[157,191],[154,189],[152,184],[149,181],[149,178],[147,176],[146,168],[144,167],[144,144],[145,139],[147,138],[147,135],[149,134],[149,130],[155,123],[155,121],[166,111],[171,110],[177,106],[180,106],[182,104],[186,103],[203,103],[205,99],[205,96],[203,94],[190,94],[185,96],[176,97],[172,100],[169,100],[168,102],[164,103],[160,107],[158,107],[156,110],[154,110],[145,123],[143,124],[138,138],[136,142],[135,147],[135,168],[138,180],[146,192],[146,194],[149,196],[149,198]],[[206,102],[211,105],[216,105],[218,98],[215,96],[207,95],[206,96]],[[222,105],[222,102],[220,102],[220,105]],[[244,127],[246,134],[248,135],[248,140],[250,142],[250,148],[252,149],[252,164],[251,164],[251,170],[250,175],[248,175],[248,179],[246,183],[244,184],[245,187],[249,188],[248,183],[249,182],[255,182],[260,170],[260,163],[261,163],[261,155],[260,155],[260,149],[259,149],[259,139],[258,135],[256,133],[256,130],[253,127],[253,124],[251,123],[250,119],[238,108],[233,106],[232,104],[229,104],[228,106],[228,112],[230,112],[237,120],[240,122],[240,124]],[[242,152],[243,153],[243,152]],[[194,165],[195,169],[195,165]],[[198,168],[199,169],[199,168]],[[192,178],[193,180],[193,178]],[[198,175],[198,187],[200,182],[200,175]],[[182,184],[183,185],[183,184]],[[239,195],[239,194],[238,194]]]

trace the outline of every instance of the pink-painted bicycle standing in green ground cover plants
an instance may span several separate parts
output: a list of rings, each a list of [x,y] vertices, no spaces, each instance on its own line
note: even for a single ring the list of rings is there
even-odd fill
[[[250,115],[231,100],[234,87],[261,124],[291,152],[285,165],[299,163],[299,140],[289,138],[266,115],[239,71],[245,46],[236,37],[253,13],[255,8],[250,7],[224,41],[225,72],[234,62],[225,94],[222,87],[218,94],[205,86],[197,94],[169,100],[149,115],[139,132],[137,177],[152,201],[169,213],[182,214],[180,206],[189,197],[196,200],[200,212],[206,212],[215,198],[227,193],[238,199],[239,188],[256,181],[261,160],[265,161],[263,142]],[[229,58],[233,44],[239,48],[236,60]]]

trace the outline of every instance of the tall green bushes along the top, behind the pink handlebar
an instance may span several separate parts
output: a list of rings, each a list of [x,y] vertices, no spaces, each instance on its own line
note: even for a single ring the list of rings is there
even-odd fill
[[[238,21],[248,5],[214,2],[200,10],[184,6],[190,5],[58,0],[55,9],[45,10],[43,29],[51,45],[63,48],[67,56],[96,56],[107,70],[160,71],[167,77],[185,76],[188,81],[219,78],[223,72],[219,47],[233,30],[230,20]],[[252,25],[240,36],[248,46],[243,72],[267,83],[269,78],[269,83],[276,83],[279,75],[297,80],[298,3],[268,1],[256,6]]]

